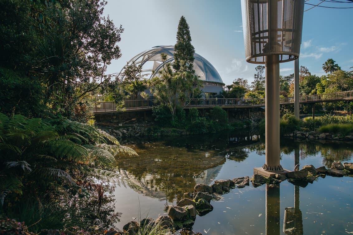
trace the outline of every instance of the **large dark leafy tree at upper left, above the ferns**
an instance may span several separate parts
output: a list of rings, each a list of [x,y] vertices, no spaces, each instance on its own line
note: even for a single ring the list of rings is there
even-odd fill
[[[42,84],[42,103],[54,114],[73,119],[75,109],[84,107],[84,98],[115,76],[106,74],[107,66],[121,56],[117,43],[123,29],[116,28],[109,17],[102,17],[106,3],[4,2],[0,54],[11,56],[0,58],[0,66]],[[25,97],[21,102],[26,103]]]

